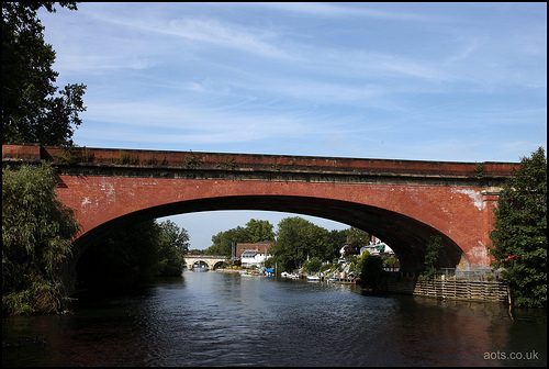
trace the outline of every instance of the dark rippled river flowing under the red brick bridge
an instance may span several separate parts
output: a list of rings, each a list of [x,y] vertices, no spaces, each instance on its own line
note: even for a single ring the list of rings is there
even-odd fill
[[[3,367],[547,365],[542,310],[214,271],[3,317],[2,338]]]

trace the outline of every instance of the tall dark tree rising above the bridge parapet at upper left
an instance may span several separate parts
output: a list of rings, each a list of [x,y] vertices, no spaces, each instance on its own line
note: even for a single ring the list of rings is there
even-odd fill
[[[37,18],[42,7],[55,12],[54,4],[2,2],[2,143],[70,146],[81,123],[86,86],[67,85],[56,93],[55,51]],[[59,5],[78,10],[76,2]]]

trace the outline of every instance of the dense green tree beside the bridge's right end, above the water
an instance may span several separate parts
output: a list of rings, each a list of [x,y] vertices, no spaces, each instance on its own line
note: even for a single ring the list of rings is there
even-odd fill
[[[547,306],[547,158],[539,147],[502,186],[492,266],[503,268],[517,305]]]

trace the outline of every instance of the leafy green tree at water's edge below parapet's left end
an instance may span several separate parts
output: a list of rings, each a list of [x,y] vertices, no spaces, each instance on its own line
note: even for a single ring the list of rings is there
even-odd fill
[[[3,312],[48,313],[66,305],[69,281],[59,267],[80,226],[55,188],[47,164],[2,169]]]

